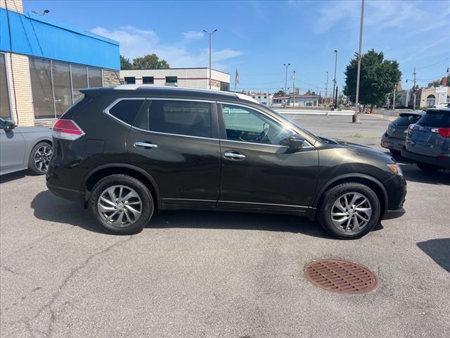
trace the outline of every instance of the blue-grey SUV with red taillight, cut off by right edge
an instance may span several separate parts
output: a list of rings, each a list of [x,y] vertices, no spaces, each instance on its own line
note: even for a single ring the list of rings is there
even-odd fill
[[[427,109],[416,124],[410,125],[401,156],[424,171],[450,169],[450,108]]]

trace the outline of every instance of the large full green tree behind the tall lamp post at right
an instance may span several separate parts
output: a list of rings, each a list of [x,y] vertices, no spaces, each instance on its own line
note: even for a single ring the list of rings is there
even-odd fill
[[[344,94],[350,101],[356,101],[356,72],[358,60],[350,61],[345,68]],[[361,104],[384,104],[387,95],[392,93],[399,83],[401,71],[397,61],[385,60],[383,51],[371,49],[361,58],[361,74],[359,80],[359,102]]]

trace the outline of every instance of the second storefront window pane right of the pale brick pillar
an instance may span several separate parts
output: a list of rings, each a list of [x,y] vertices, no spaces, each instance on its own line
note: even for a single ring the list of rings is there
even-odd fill
[[[69,63],[52,61],[53,90],[55,91],[56,116],[63,115],[72,106]]]

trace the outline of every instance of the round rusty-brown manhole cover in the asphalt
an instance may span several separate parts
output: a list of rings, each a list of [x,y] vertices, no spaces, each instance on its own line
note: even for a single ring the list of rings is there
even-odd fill
[[[317,287],[339,294],[367,294],[378,278],[364,266],[341,259],[319,259],[307,265],[304,277]]]

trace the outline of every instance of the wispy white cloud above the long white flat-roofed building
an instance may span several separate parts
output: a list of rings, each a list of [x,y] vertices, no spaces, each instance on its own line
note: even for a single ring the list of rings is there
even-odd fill
[[[196,51],[192,51],[186,46],[186,40],[200,39],[203,37],[203,32],[184,32],[184,41],[180,41],[178,44],[163,44],[155,31],[140,30],[134,26],[120,26],[113,30],[96,27],[91,32],[120,42],[120,54],[130,59],[155,53],[158,57],[165,59],[173,68],[207,67],[208,65],[209,54],[206,44],[205,49]],[[233,49],[213,49],[212,68],[226,70],[228,68],[227,61],[241,55],[243,55],[242,51]]]

